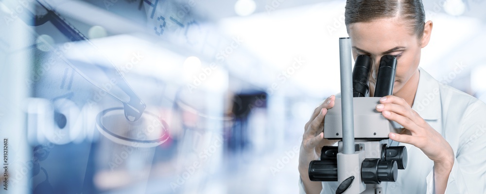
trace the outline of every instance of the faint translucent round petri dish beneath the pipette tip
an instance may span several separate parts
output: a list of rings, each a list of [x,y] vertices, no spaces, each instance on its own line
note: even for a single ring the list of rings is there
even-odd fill
[[[132,147],[155,147],[170,137],[168,124],[144,111],[139,120],[125,118],[123,107],[108,108],[96,117],[96,128],[109,140]]]

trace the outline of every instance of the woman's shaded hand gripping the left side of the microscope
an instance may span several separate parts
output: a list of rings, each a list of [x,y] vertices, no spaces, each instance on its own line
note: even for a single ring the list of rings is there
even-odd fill
[[[304,127],[304,135],[300,145],[299,172],[307,194],[318,194],[322,190],[321,182],[312,182],[309,179],[309,163],[320,158],[323,146],[337,142],[324,139],[323,131],[324,116],[326,116],[328,109],[334,106],[335,98],[334,95],[331,95],[320,106],[315,108],[311,119]]]

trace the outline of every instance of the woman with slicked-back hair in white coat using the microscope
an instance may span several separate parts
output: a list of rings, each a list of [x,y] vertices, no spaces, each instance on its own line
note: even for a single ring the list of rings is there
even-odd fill
[[[403,126],[389,138],[408,149],[408,166],[397,182],[382,182],[385,193],[486,192],[486,105],[442,85],[418,67],[420,51],[431,38],[432,21],[425,22],[421,0],[347,0],[345,21],[352,53],[373,59],[370,94],[380,58],[398,60],[393,95],[380,99],[376,110]],[[332,145],[323,137],[324,117],[335,96],[318,106],[308,123],[300,148],[301,193],[334,193],[336,182],[312,182],[308,167],[320,149]]]

